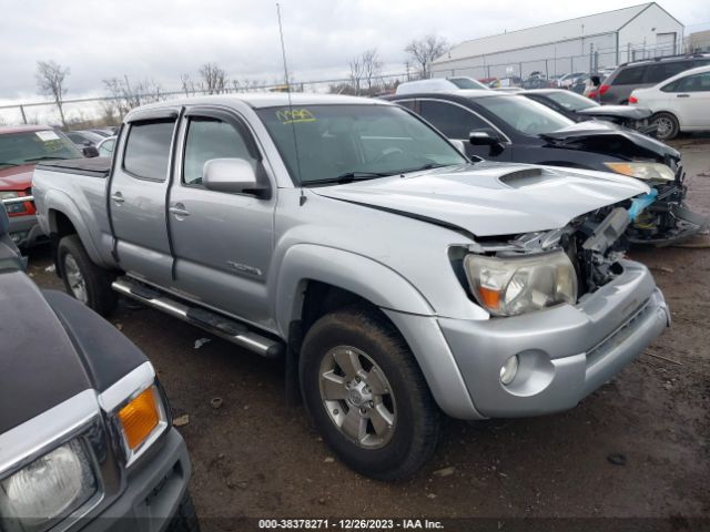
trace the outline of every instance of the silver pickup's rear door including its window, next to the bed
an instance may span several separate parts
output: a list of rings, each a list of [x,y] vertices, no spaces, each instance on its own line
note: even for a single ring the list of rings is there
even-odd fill
[[[178,113],[143,113],[123,127],[109,190],[119,264],[162,286],[170,284],[172,269],[165,195]]]

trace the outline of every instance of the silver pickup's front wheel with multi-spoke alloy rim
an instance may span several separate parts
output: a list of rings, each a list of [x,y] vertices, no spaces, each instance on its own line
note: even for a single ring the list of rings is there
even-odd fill
[[[300,377],[316,429],[358,473],[406,479],[434,453],[439,409],[406,342],[376,310],[356,305],[318,319],[303,341]]]

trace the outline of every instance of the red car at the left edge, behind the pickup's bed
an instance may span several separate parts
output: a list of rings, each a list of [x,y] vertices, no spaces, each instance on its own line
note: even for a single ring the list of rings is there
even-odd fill
[[[32,202],[34,165],[84,155],[93,152],[82,154],[67,135],[48,125],[0,127],[0,201],[10,215],[10,237],[18,246],[31,247],[47,239],[37,225]]]

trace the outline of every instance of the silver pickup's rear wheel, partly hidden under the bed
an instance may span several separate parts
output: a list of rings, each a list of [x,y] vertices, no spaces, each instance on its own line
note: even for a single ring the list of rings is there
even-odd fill
[[[91,260],[79,235],[64,236],[59,241],[57,263],[70,296],[101,316],[108,316],[115,309],[119,298],[111,289],[115,275]]]

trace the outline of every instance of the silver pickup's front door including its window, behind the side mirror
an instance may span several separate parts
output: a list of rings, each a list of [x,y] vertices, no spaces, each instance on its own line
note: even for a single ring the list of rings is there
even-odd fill
[[[182,117],[184,145],[169,196],[174,286],[184,295],[266,329],[266,284],[274,247],[276,188],[268,198],[209,191],[204,163],[239,157],[265,172],[246,124],[231,112],[193,108]]]

